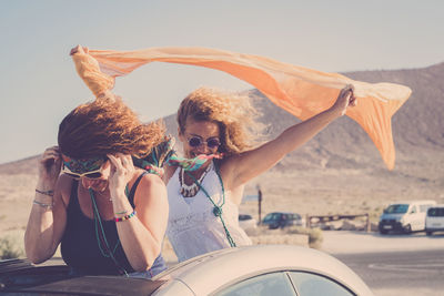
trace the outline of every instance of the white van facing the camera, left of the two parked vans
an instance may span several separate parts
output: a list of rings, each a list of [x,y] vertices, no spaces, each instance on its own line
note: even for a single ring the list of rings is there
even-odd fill
[[[390,204],[380,216],[380,233],[424,231],[427,210],[435,204],[435,201],[406,201]]]

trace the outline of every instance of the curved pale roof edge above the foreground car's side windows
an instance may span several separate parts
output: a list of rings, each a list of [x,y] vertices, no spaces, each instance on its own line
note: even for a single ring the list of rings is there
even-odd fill
[[[326,253],[294,245],[225,248],[179,264],[155,279],[175,279],[192,288],[196,295],[209,295],[228,283],[275,271],[321,274],[362,296],[373,295],[365,283],[342,262]]]

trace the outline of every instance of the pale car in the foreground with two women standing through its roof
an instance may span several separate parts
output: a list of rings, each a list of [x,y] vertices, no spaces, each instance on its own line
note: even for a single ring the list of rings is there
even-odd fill
[[[69,277],[67,266],[0,263],[8,295],[329,295],[370,296],[366,284],[333,256],[294,245],[225,248],[178,264],[152,280],[122,276]]]

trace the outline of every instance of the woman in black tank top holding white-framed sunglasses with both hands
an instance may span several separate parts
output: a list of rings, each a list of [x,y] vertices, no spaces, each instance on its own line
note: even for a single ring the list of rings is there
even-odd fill
[[[73,275],[152,277],[165,269],[165,185],[157,167],[132,161],[162,141],[163,126],[142,124],[113,95],[72,110],[60,123],[59,145],[39,161],[28,258],[42,263],[60,244]]]

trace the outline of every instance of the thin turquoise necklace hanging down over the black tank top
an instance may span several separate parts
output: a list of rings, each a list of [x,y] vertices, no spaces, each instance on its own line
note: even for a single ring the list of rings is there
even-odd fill
[[[124,274],[128,277],[129,275],[128,275],[127,271],[118,263],[118,261],[114,257],[115,249],[120,245],[120,239],[118,238],[115,246],[111,251],[110,244],[108,243],[108,239],[107,239],[107,236],[105,236],[105,233],[103,229],[102,218],[100,217],[99,208],[95,203],[94,191],[89,188],[88,192],[90,193],[91,202],[93,205],[95,238],[98,241],[98,246],[99,246],[100,253],[102,254],[103,257],[111,258],[112,262],[118,267],[119,272],[121,274]],[[125,194],[128,196],[128,186],[125,187]]]

